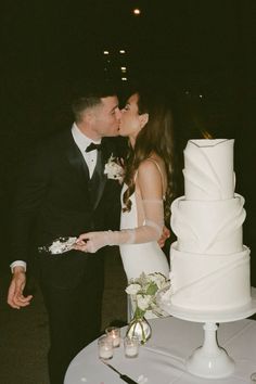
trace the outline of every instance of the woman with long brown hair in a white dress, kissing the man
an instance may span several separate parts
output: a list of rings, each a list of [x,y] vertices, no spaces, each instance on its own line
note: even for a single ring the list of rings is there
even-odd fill
[[[166,255],[157,243],[169,220],[174,191],[172,116],[166,101],[142,90],[133,92],[121,110],[119,135],[129,140],[120,231],[84,233],[75,248],[94,253],[119,245],[128,280],[142,272],[168,278]]]

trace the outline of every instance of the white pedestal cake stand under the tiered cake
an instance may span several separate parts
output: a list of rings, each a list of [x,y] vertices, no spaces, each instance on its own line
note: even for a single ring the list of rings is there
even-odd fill
[[[176,318],[203,322],[204,343],[196,348],[185,362],[188,372],[206,379],[221,379],[229,376],[234,370],[234,361],[227,351],[218,345],[216,323],[245,319],[256,312],[256,289],[252,289],[252,300],[243,307],[227,311],[193,311],[165,303],[159,296],[161,307]]]

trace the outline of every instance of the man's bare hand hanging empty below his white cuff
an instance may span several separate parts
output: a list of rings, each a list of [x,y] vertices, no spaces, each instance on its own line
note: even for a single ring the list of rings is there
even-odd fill
[[[24,296],[23,291],[26,285],[26,273],[23,267],[14,267],[13,278],[9,286],[8,304],[12,308],[20,309],[30,304],[33,295]]]

